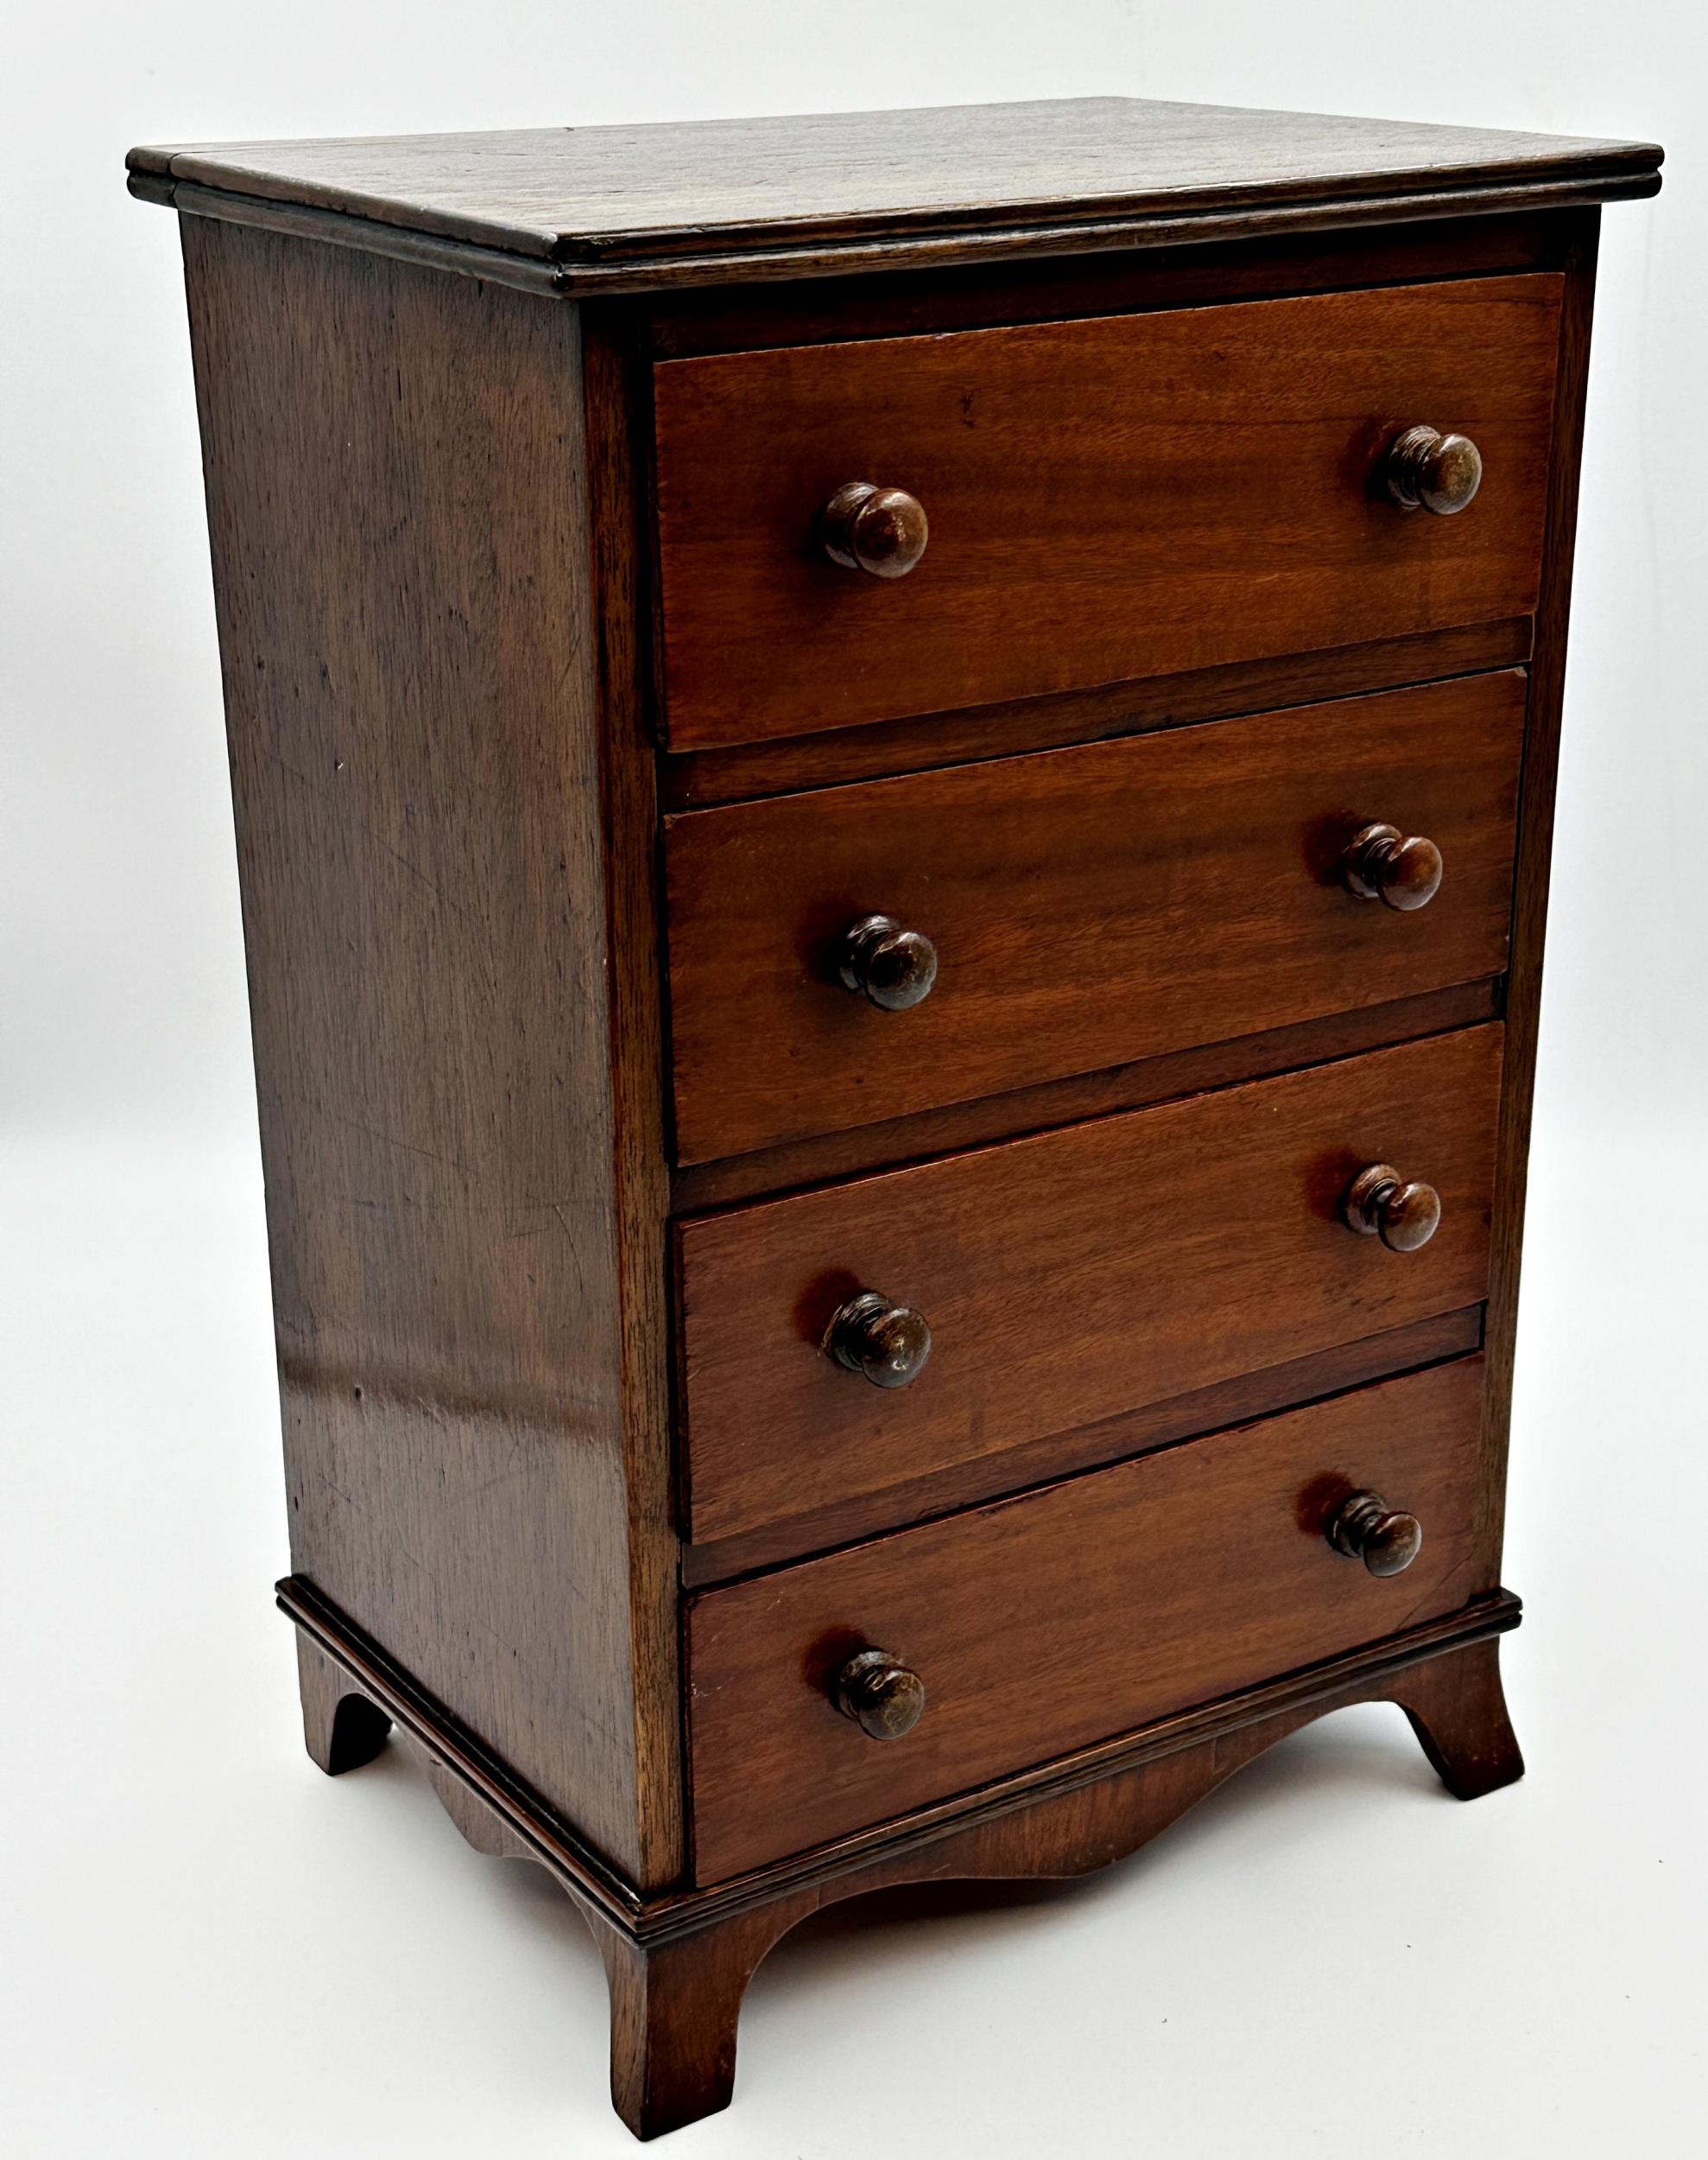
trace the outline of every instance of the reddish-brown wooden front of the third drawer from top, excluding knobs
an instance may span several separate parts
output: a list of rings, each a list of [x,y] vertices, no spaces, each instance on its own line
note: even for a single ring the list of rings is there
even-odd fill
[[[1483,1298],[1501,1028],[1259,1080],[678,1227],[695,1542]],[[1416,1251],[1347,1229],[1373,1164],[1440,1194]],[[823,1348],[870,1292],[931,1352]]]

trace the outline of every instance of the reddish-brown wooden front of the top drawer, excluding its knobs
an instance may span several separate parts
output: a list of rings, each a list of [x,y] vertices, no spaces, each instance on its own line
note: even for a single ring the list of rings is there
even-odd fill
[[[754,743],[1535,607],[1561,279],[1466,279],[654,369],[665,739]],[[1483,486],[1375,467],[1458,430]],[[833,564],[849,482],[905,577]]]

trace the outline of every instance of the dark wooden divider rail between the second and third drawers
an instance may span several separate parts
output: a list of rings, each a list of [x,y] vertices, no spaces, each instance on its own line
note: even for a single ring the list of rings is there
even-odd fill
[[[1427,991],[1421,998],[1399,998],[1367,1011],[1306,1020],[1296,1028],[1239,1035],[1226,1043],[1177,1050],[1162,1058],[1138,1058],[1134,1065],[1112,1065],[1073,1080],[1047,1080],[1041,1086],[1013,1089],[978,1102],[946,1104],[941,1110],[926,1110],[918,1117],[855,1125],[814,1140],[726,1156],[719,1162],[695,1162],[674,1171],[672,1201],[676,1214],[704,1214],[732,1201],[816,1186],[862,1169],[877,1171],[924,1162],[931,1156],[976,1147],[982,1140],[1024,1138],[1088,1117],[1108,1117],[1112,1110],[1138,1110],[1175,1095],[1231,1086],[1235,1080],[1261,1080],[1265,1074],[1321,1065],[1358,1050],[1382,1050],[1388,1043],[1445,1035],[1451,1028],[1475,1026],[1479,1020],[1499,1020],[1503,994],[1501,976],[1483,976],[1477,983]]]

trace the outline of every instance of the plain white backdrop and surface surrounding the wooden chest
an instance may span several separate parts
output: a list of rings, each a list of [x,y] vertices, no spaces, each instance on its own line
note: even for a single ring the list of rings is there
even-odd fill
[[[261,1190],[173,220],[130,143],[1131,93],[1667,143],[1604,220],[1507,1644],[1531,1776],[1397,1711],[1073,1890],[788,1940],[672,2151],[1704,2149],[1699,0],[9,0],[0,41],[0,2145],[624,2154],[542,1875],[296,1728]]]

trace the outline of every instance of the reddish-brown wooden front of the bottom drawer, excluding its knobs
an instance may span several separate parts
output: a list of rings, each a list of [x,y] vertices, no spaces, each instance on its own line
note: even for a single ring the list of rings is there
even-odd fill
[[[1496,1588],[1477,1529],[1483,1361],[1190,1441],[810,1560],[689,1607],[700,1881],[1334,1657]],[[1373,1490],[1423,1525],[1401,1575],[1326,1525]],[[881,1648],[924,1713],[877,1741],[831,1704]]]

